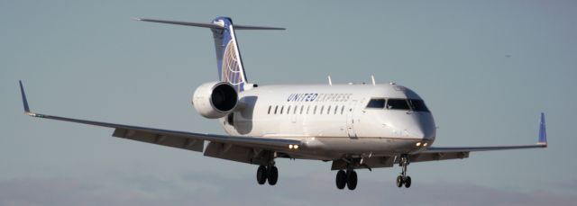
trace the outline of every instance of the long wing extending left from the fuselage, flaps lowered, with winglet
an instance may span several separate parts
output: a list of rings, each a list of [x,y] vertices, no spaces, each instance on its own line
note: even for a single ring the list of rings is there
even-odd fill
[[[207,146],[205,151],[205,156],[208,157],[219,157],[240,162],[252,163],[251,155],[253,157],[258,156],[260,150],[286,151],[289,149],[289,145],[301,146],[301,142],[295,139],[272,139],[194,133],[178,130],[161,130],[101,121],[78,120],[35,113],[30,111],[30,107],[26,99],[26,94],[24,94],[22,81],[20,81],[20,91],[22,93],[24,112],[29,116],[57,121],[70,121],[105,128],[113,128],[113,136],[117,138],[133,139],[142,142],[148,142],[173,148],[183,148],[198,152],[203,151],[204,141],[207,140],[210,141],[210,144]],[[231,154],[226,155],[224,153]]]

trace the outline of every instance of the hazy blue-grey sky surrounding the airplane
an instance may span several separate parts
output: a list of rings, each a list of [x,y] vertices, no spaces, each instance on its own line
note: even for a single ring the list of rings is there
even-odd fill
[[[472,153],[360,171],[338,191],[330,163],[279,160],[279,184],[256,166],[112,138],[112,130],[23,115],[223,133],[194,111],[216,79],[206,29],[133,17],[243,24],[249,81],[260,85],[397,82],[420,94],[435,146],[532,144],[545,112],[550,147]],[[575,1],[7,1],[0,0],[0,205],[544,205],[577,202]]]

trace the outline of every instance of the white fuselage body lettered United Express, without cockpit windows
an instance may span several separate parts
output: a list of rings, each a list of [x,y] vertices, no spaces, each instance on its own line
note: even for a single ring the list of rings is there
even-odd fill
[[[431,112],[371,108],[371,99],[421,100],[401,85],[268,85],[240,93],[237,112],[219,121],[231,135],[304,140],[302,157],[386,156],[433,143]]]

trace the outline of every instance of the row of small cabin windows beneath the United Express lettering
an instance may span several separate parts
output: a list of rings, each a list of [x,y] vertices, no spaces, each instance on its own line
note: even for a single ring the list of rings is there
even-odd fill
[[[325,110],[326,109],[326,110]],[[267,114],[343,114],[344,105],[269,105]]]

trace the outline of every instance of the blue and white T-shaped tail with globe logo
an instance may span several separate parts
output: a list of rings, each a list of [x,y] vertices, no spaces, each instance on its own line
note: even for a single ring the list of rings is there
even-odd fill
[[[233,24],[229,17],[216,17],[211,23],[202,22],[175,22],[153,19],[136,19],[143,22],[162,22],[185,26],[209,28],[215,38],[216,62],[220,81],[234,85],[237,92],[244,90],[248,83],[243,67],[243,58],[236,40],[235,30],[285,30],[284,28],[246,26]]]

